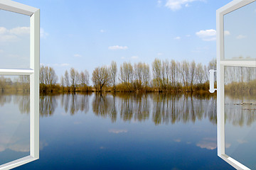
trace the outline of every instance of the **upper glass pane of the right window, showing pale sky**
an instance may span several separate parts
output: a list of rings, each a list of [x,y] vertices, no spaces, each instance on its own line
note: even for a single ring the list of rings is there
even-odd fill
[[[256,59],[256,1],[224,16],[224,58]]]

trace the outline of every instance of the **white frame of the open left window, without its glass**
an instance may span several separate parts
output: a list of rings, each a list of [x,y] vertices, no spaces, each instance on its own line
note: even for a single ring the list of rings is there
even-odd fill
[[[6,170],[39,159],[40,11],[11,0],[0,0],[0,9],[30,16],[30,69],[0,68],[0,75],[30,76],[30,155],[0,165],[0,170]]]

